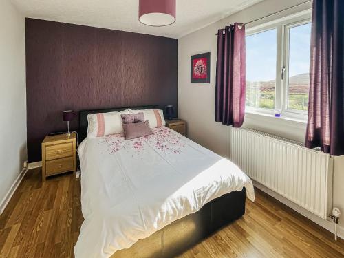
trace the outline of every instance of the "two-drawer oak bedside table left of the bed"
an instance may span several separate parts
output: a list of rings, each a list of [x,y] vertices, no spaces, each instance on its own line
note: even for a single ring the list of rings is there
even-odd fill
[[[42,142],[42,181],[50,175],[76,173],[76,133],[45,136]]]

